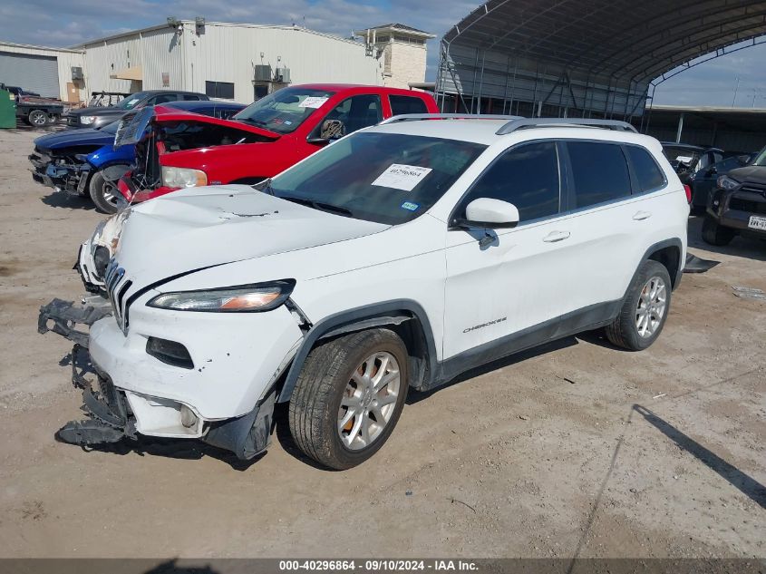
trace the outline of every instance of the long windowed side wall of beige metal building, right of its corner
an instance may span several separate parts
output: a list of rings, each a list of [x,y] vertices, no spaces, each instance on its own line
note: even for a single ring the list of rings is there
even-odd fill
[[[253,66],[290,69],[297,83],[383,83],[381,63],[364,44],[289,26],[206,24],[204,34],[186,24],[186,87],[205,92],[205,82],[234,83],[234,99],[253,101]],[[261,54],[263,58],[261,58]]]

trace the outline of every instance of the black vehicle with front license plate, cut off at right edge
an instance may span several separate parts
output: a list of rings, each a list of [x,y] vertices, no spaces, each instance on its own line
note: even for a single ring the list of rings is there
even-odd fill
[[[741,232],[766,238],[766,148],[716,181],[707,202],[703,239],[726,245]]]

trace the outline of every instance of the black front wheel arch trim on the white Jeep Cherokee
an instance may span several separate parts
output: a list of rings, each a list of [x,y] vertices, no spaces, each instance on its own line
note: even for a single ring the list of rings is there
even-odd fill
[[[411,299],[396,299],[342,311],[325,317],[311,327],[306,333],[303,343],[296,351],[293,362],[287,371],[285,384],[276,402],[285,403],[290,400],[290,396],[296,388],[298,375],[303,369],[305,358],[318,340],[326,336],[351,333],[370,326],[399,325],[410,319],[417,319],[422,326],[422,336],[425,340],[427,354],[427,372],[424,374],[423,385],[428,386],[431,378],[436,374],[436,344],[433,339],[431,323],[419,303]]]

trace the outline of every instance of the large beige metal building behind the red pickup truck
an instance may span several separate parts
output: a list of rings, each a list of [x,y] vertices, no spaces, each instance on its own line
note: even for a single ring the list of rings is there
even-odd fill
[[[364,44],[298,26],[169,18],[77,47],[89,92],[171,88],[247,103],[286,83],[383,83]]]

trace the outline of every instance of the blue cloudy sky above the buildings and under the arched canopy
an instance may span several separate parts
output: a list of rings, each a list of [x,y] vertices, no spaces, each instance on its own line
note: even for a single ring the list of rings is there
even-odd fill
[[[441,37],[478,5],[470,0],[2,0],[0,40],[66,47],[162,24],[167,16],[197,15],[210,22],[305,25],[345,37],[354,29],[396,22]],[[438,38],[428,49],[427,80],[433,81]],[[766,107],[764,62],[766,44],[722,56],[661,83],[654,102]]]

